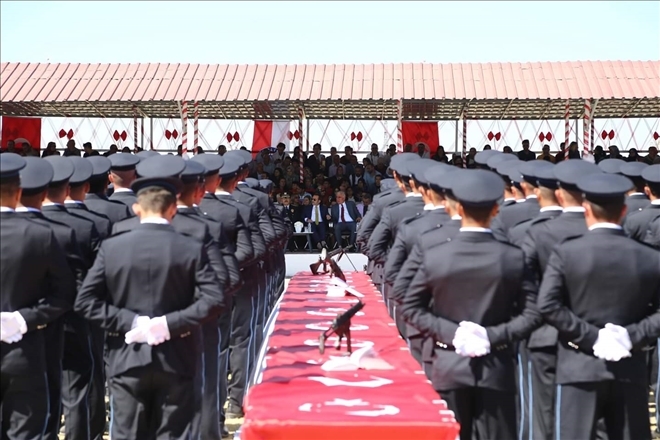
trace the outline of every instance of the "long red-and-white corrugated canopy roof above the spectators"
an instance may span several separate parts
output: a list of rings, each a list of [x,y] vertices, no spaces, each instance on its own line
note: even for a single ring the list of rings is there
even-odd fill
[[[2,115],[202,119],[563,119],[660,116],[660,61],[208,65],[2,63]]]

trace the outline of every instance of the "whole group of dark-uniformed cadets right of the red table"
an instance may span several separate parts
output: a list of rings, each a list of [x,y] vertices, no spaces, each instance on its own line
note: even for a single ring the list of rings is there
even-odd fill
[[[660,166],[476,162],[394,156],[358,230],[461,439],[650,439]]]

